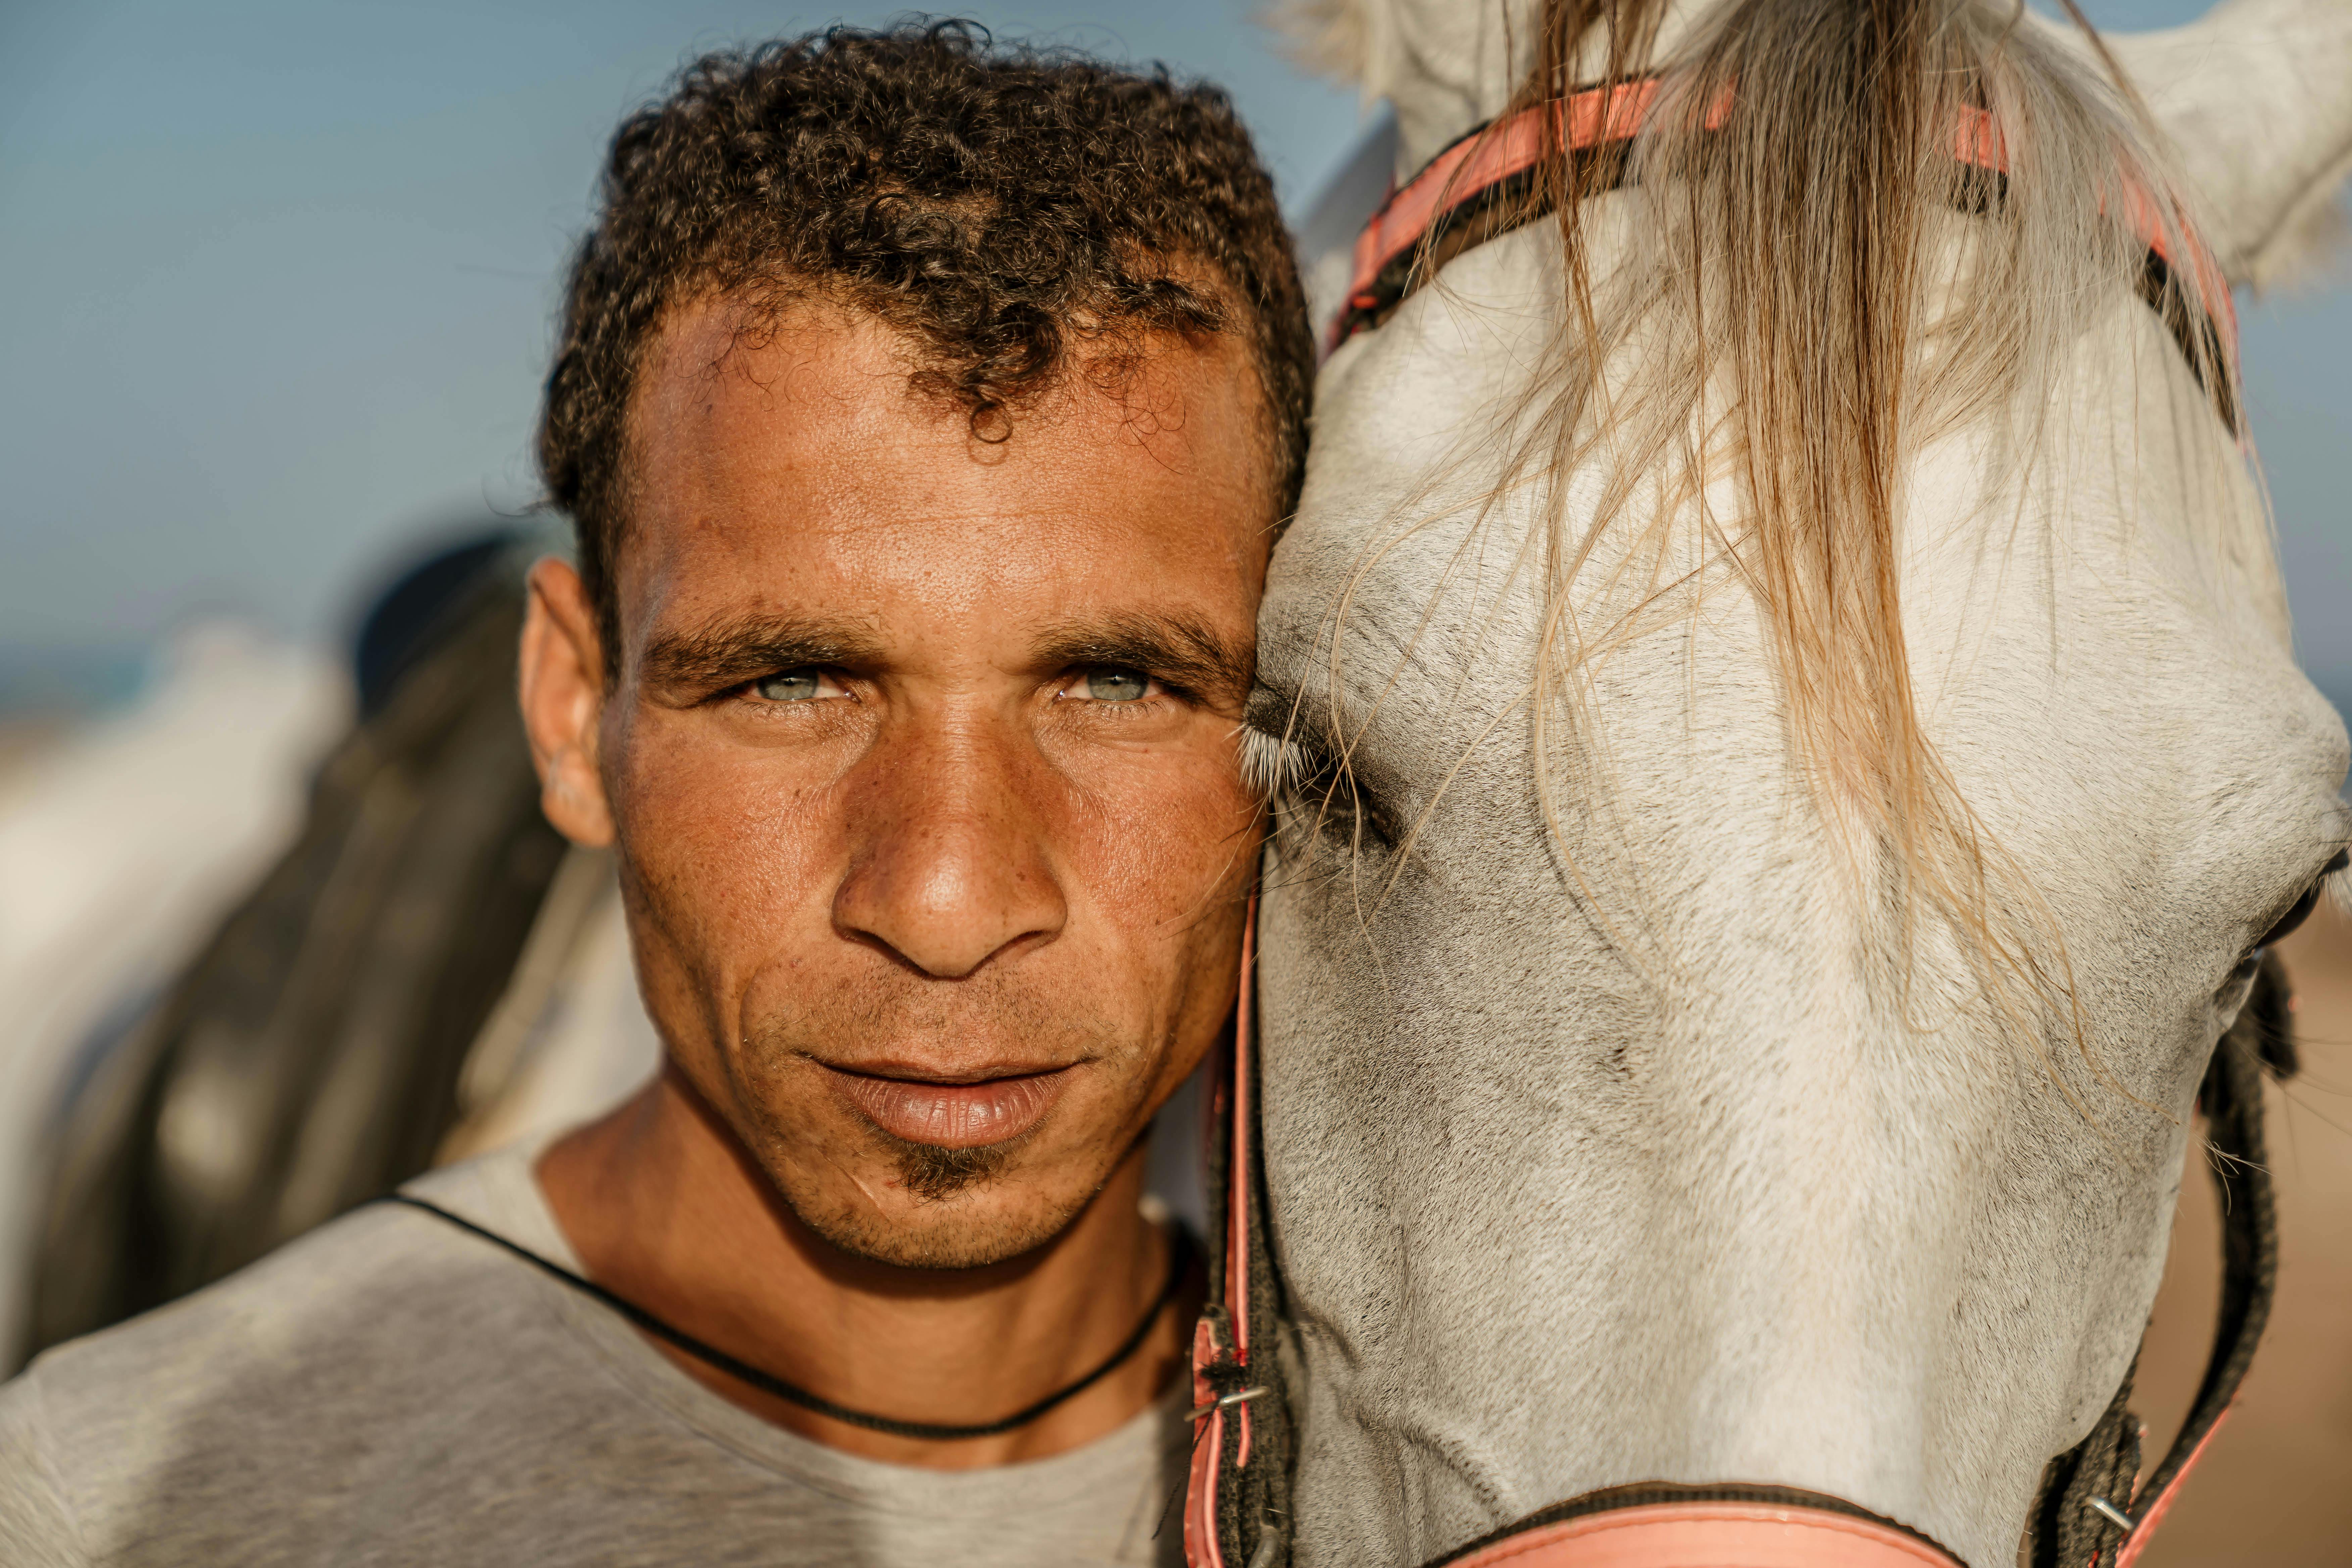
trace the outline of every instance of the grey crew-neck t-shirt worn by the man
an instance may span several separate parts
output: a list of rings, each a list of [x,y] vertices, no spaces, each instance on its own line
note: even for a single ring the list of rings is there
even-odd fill
[[[579,1267],[524,1152],[412,1192]],[[877,1465],[374,1206],[0,1387],[0,1563],[1178,1563],[1181,1394],[1049,1460]]]

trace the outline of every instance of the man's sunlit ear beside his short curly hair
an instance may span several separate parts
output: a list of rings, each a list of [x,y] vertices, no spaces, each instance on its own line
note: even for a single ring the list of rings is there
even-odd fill
[[[595,607],[569,562],[532,567],[522,616],[522,729],[539,766],[539,809],[588,849],[612,844],[612,804],[597,769],[604,719],[604,649]]]

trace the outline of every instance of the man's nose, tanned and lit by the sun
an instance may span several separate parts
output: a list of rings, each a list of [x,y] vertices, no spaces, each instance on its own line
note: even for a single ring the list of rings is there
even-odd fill
[[[1049,769],[988,722],[887,736],[851,783],[833,926],[960,980],[1070,917],[1049,842]]]

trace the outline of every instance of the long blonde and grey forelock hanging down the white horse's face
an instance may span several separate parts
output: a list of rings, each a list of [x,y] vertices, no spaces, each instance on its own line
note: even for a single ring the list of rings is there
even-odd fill
[[[1559,726],[1597,748],[1585,698],[1597,663],[1656,630],[1661,609],[1686,614],[1708,583],[1738,581],[1769,628],[1792,752],[1830,839],[1856,893],[1889,912],[1884,961],[1905,1013],[1922,931],[1943,926],[2006,1034],[2037,1053],[2053,1032],[2072,1034],[2096,1070],[2056,922],[1922,724],[1898,517],[1922,444],[1959,430],[1987,435],[1987,461],[2011,475],[2018,505],[2027,477],[2044,487],[2037,498],[2063,489],[2051,400],[2119,299],[2152,289],[2166,322],[2192,324],[2180,339],[2209,400],[2244,407],[2194,270],[2147,282],[2147,237],[2122,221],[2152,212],[2166,254],[2192,256],[2190,195],[2112,63],[2103,78],[2018,26],[2011,5],[1726,0],[1672,59],[1653,61],[1668,5],[1545,0],[1515,103],[1658,78],[1637,139],[1604,155],[1555,146],[1517,214],[1557,226],[1562,329],[1524,402],[1498,421],[1501,482],[1475,508],[1484,517],[1505,496],[1543,498],[1543,536],[1519,541],[1522,567],[1543,574],[1526,698],[1543,816],[1569,853],[1545,759],[1569,755]],[[1364,24],[1350,7],[1301,12],[1308,49],[1362,68]],[[1955,158],[1969,115],[1990,115],[2004,169]],[[1592,266],[1602,195],[1639,205],[1611,228],[1630,235],[1630,252],[1604,275]],[[1423,249],[1432,287],[1442,259]],[[2225,437],[2211,449],[2237,461]],[[1595,505],[1569,505],[1569,475],[1597,480]],[[1632,552],[1628,527],[1649,529]],[[1698,543],[1696,567],[1689,550],[1675,552],[1677,527]],[[1625,588],[1625,562],[1646,583],[1635,583],[1630,611],[1585,625],[1571,590],[1583,578],[1592,597],[1585,574],[1611,538],[1611,585]],[[1369,548],[1367,564],[1392,543]],[[2274,571],[2267,529],[2216,545],[2239,567]],[[1336,658],[1336,637],[1331,649]],[[1331,691],[1336,701],[1336,679]],[[1581,783],[1595,785],[1578,799],[1590,816],[1588,797],[1604,790]]]

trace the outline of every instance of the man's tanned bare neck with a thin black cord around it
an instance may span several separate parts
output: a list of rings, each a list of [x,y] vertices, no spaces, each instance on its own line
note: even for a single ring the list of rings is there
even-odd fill
[[[978,1269],[856,1258],[800,1222],[675,1070],[539,1161],[588,1276],[675,1328],[833,1403],[983,1425],[1094,1371],[1160,1293],[1167,1241],[1138,1211],[1141,1145],[1047,1246]],[[1040,1420],[924,1441],[837,1422],[647,1340],[722,1399],[894,1465],[976,1469],[1077,1448],[1138,1415],[1183,1361],[1181,1309],[1143,1349]]]

